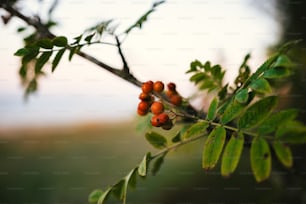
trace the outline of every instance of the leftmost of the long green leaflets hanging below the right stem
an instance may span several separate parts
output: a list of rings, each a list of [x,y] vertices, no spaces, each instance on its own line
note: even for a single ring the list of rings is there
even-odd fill
[[[216,127],[207,137],[202,155],[202,167],[212,169],[218,162],[226,137],[224,127]]]

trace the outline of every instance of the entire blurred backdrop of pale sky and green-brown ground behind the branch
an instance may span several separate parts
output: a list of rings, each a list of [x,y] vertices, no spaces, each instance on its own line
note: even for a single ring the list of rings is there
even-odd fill
[[[22,0],[26,15],[46,14],[53,0]],[[124,30],[147,11],[152,1],[59,0],[52,13],[57,35],[72,39],[101,20],[114,19]],[[255,70],[275,47],[305,39],[303,1],[169,0],[134,30],[123,44],[131,71],[141,81],[175,82],[185,97],[196,88],[185,71],[194,59],[210,60],[227,70],[232,81],[247,53]],[[6,12],[0,9],[1,15]],[[86,203],[88,194],[105,189],[153,151],[137,129],[140,90],[95,65],[64,58],[54,74],[40,79],[39,90],[23,98],[20,61],[13,53],[24,35],[16,18],[0,24],[0,203]],[[101,61],[120,67],[117,50],[84,47]],[[291,51],[300,66],[286,82],[282,104],[300,110],[305,122],[305,42]],[[205,98],[192,101],[200,109]],[[169,132],[171,138],[173,132]],[[172,135],[171,135],[172,134]],[[128,203],[306,203],[303,146],[294,148],[295,165],[273,161],[271,179],[256,184],[245,151],[228,179],[201,169],[202,142],[169,154],[157,176],[139,180]],[[110,201],[110,203],[116,201]]]

